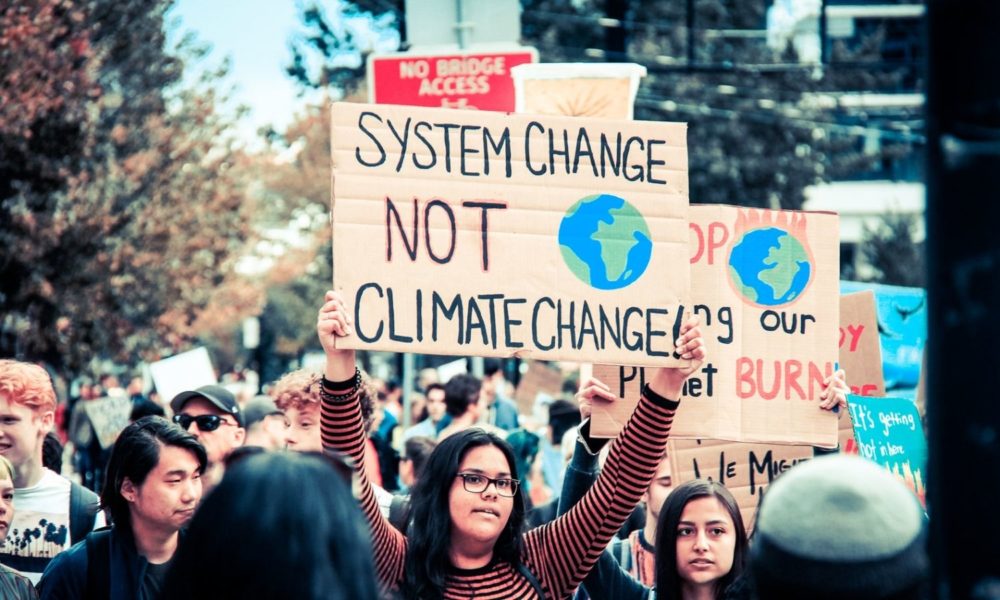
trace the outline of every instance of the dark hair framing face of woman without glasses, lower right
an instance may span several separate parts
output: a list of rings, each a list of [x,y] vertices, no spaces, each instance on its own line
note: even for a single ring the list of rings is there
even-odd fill
[[[726,589],[743,574],[746,566],[749,542],[739,504],[726,489],[715,481],[695,479],[674,488],[660,509],[660,520],[656,524],[656,595],[660,598],[680,598],[681,578],[677,573],[677,524],[680,523],[684,507],[698,498],[715,498],[729,512],[736,531],[736,547],[733,549],[733,568],[715,582],[715,597],[722,598]]]

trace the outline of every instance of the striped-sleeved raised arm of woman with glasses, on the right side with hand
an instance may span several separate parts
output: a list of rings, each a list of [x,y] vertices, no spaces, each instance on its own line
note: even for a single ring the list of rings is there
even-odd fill
[[[537,569],[551,597],[572,593],[649,486],[663,457],[684,381],[705,357],[697,320],[685,323],[677,346],[690,361],[688,366],[652,371],[593,488],[565,515],[526,534],[527,562]]]

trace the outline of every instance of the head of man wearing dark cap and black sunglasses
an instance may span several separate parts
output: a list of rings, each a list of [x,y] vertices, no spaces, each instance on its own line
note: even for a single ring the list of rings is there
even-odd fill
[[[181,392],[170,401],[170,407],[174,410],[174,423],[205,446],[208,453],[204,477],[207,492],[222,479],[226,457],[246,439],[243,411],[236,397],[219,385],[203,385]]]

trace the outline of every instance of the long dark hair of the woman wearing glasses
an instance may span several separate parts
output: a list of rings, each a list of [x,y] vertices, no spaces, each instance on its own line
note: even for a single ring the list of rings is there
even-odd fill
[[[411,499],[412,525],[408,532],[406,578],[403,594],[406,598],[435,600],[442,598],[445,577],[450,566],[451,512],[449,494],[458,474],[458,467],[469,450],[480,446],[495,446],[507,459],[511,477],[517,479],[517,464],[510,444],[499,436],[472,427],[448,436],[431,453],[424,472],[413,489]],[[515,568],[521,562],[525,501],[521,487],[514,494],[514,509],[507,525],[493,546],[493,558],[508,562]]]

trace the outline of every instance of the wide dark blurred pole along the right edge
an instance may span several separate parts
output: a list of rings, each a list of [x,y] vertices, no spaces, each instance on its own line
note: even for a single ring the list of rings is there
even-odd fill
[[[983,600],[1000,597],[1000,2],[929,0],[926,22],[932,592]]]

